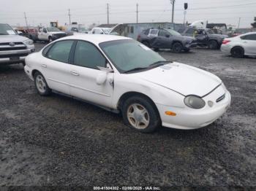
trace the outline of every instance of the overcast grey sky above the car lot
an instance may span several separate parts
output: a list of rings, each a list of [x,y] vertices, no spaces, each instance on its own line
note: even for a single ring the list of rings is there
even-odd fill
[[[176,0],[175,23],[183,23],[184,2],[189,4],[187,21],[208,20],[208,23],[227,23],[240,27],[251,27],[256,17],[256,0]],[[25,26],[26,12],[29,25],[47,26],[58,20],[61,25],[72,22],[85,24],[107,23],[107,3],[110,5],[110,23],[135,23],[136,4],[139,22],[170,22],[170,0],[0,0],[0,23]]]

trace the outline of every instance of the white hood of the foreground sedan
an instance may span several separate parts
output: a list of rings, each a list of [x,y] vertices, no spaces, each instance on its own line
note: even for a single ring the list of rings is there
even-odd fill
[[[214,74],[182,63],[170,63],[132,75],[184,96],[203,97],[222,83],[221,79]]]

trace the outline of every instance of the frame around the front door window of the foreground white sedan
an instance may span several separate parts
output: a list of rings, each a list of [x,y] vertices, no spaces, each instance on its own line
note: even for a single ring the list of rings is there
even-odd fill
[[[109,63],[111,69],[113,69],[112,62],[110,62],[110,60],[103,54],[102,50],[100,50],[99,47],[95,46],[94,43],[86,41],[86,40],[83,40],[83,39],[75,39],[75,43],[73,44],[72,50],[70,51],[71,55],[69,55],[69,58],[70,58],[69,64],[71,64],[73,66],[79,66],[79,65],[75,64],[75,50],[76,50],[76,46],[78,44],[78,41],[80,41],[80,42],[87,42],[89,44],[92,44],[94,47],[96,47],[96,49],[103,56],[103,58],[105,58],[105,67],[107,67],[107,63]],[[80,67],[83,67],[83,68],[86,68],[86,69],[94,69],[94,68],[90,68],[90,67],[86,67],[86,66],[80,66]],[[99,69],[95,69],[95,70],[99,70]]]

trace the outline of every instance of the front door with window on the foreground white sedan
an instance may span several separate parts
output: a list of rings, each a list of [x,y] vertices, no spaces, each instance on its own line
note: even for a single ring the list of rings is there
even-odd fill
[[[73,96],[102,106],[111,107],[113,73],[108,73],[104,84],[97,85],[102,74],[97,66],[106,67],[106,58],[89,42],[78,41],[70,71],[70,92]]]

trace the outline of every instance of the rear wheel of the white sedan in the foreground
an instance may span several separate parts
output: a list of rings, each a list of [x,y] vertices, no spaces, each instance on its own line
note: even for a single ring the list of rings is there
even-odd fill
[[[45,81],[45,77],[43,77],[39,71],[37,71],[34,74],[34,85],[39,95],[42,95],[42,96],[50,95],[51,90],[48,87],[47,82]]]

